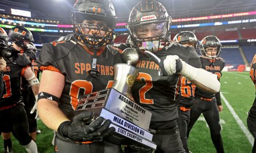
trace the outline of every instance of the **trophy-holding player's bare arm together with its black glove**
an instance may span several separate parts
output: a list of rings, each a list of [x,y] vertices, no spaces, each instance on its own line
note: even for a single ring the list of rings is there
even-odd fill
[[[61,96],[65,85],[65,77],[63,74],[44,70],[41,76],[39,93],[48,93],[55,98]],[[38,100],[39,116],[50,129],[57,131],[59,135],[78,141],[101,141],[105,136],[115,131],[114,127],[110,127],[111,121],[102,117],[98,117],[90,125],[84,125],[83,121],[92,117],[93,112],[86,111],[76,115],[70,121],[65,114],[58,108],[55,100],[40,98]]]

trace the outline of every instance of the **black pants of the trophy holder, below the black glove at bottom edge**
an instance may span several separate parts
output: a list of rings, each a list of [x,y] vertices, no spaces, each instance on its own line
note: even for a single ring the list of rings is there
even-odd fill
[[[57,153],[79,153],[79,152],[91,152],[91,153],[121,153],[121,145],[115,145],[106,141],[94,142],[89,144],[82,144],[73,141],[65,140],[60,136],[55,136],[54,142],[55,152]]]

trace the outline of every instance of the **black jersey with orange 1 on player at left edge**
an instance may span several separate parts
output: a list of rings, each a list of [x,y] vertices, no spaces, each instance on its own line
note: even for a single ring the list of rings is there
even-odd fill
[[[15,62],[6,60],[6,69],[4,70],[4,93],[0,99],[0,106],[11,106],[22,102],[20,89],[20,77],[25,73],[26,68],[30,68],[31,62],[28,57],[19,53]]]

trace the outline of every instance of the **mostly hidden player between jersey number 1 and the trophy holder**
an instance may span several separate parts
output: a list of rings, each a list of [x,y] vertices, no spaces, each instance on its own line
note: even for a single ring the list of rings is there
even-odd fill
[[[37,77],[37,70],[38,67],[36,65],[36,56],[35,56],[35,50],[36,47],[32,42],[27,45],[26,49],[24,50],[24,54],[27,55],[28,59],[31,62],[31,69],[34,72],[35,76]],[[34,106],[34,95],[33,91],[29,86],[29,83],[26,81],[26,79],[23,77],[22,78],[22,96],[23,96],[23,103],[25,104],[25,110],[28,116],[28,121],[29,121],[29,133],[30,136],[34,141],[36,141],[36,129],[37,129],[37,124],[36,124],[36,112],[33,112],[32,114],[30,111],[32,110]]]

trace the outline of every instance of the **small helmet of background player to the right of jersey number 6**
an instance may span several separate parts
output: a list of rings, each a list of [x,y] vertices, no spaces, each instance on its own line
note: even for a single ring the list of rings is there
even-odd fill
[[[214,47],[214,46],[217,46],[217,54],[211,55],[211,56],[207,55],[206,48]],[[221,44],[219,38],[217,38],[216,36],[206,36],[200,42],[200,52],[203,56],[205,56],[209,59],[215,59],[217,57],[220,57],[220,55],[221,55],[221,46],[222,46],[222,44]]]

